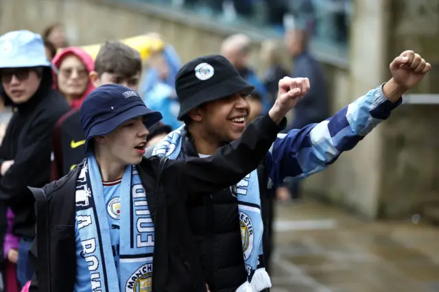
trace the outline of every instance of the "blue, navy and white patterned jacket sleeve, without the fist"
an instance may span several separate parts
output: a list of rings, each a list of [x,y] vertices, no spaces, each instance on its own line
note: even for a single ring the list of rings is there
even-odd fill
[[[267,154],[271,182],[279,186],[284,178],[298,180],[326,169],[388,119],[401,102],[402,98],[395,104],[388,101],[379,86],[321,123],[278,134]]]

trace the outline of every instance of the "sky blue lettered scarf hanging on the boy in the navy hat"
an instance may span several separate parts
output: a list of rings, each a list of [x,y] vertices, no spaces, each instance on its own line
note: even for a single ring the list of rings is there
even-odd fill
[[[152,287],[154,226],[136,167],[128,165],[120,186],[119,273],[115,266],[102,178],[88,156],[76,184],[76,221],[93,291],[141,291]],[[148,290],[150,291],[150,290]]]

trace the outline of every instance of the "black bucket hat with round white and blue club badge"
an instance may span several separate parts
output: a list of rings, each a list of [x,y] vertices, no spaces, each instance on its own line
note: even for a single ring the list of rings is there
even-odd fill
[[[254,86],[239,75],[224,56],[209,55],[187,62],[176,76],[176,93],[180,102],[178,120],[209,101],[240,91],[252,93]]]

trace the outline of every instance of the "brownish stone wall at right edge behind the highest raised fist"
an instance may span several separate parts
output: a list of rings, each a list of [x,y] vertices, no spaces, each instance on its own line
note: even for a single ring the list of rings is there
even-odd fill
[[[405,49],[420,53],[433,70],[412,93],[439,93],[439,1],[392,0],[394,29],[388,59]],[[439,206],[439,97],[407,104],[383,127],[383,179],[379,215],[423,214]]]

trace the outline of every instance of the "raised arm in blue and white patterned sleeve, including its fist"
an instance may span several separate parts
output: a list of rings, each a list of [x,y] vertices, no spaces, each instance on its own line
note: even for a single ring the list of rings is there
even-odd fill
[[[401,95],[416,85],[430,66],[412,51],[396,58],[394,77],[370,90],[330,119],[279,134],[268,154],[270,179],[275,186],[284,178],[306,178],[331,165],[344,151],[353,149],[375,126],[401,104]]]

